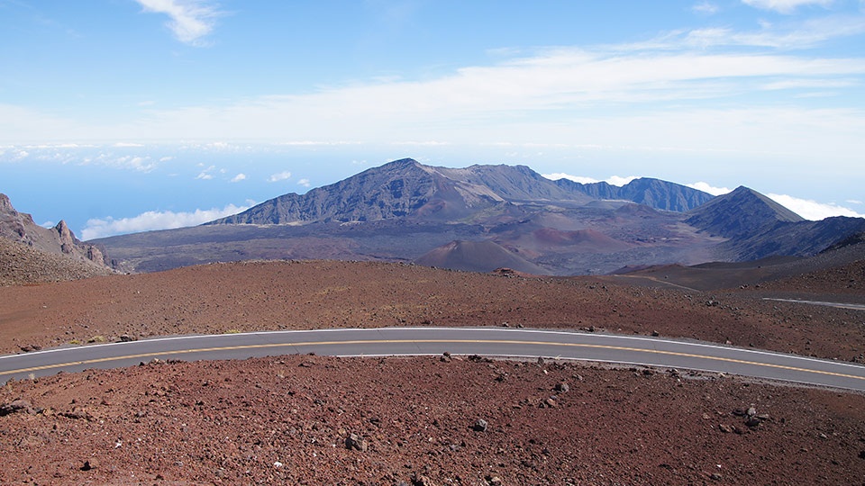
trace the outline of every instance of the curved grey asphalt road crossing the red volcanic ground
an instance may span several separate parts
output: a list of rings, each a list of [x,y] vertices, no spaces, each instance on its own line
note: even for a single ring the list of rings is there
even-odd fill
[[[89,368],[314,353],[323,356],[538,356],[740,374],[865,392],[865,366],[664,338],[505,328],[385,328],[155,338],[0,356],[0,383]]]

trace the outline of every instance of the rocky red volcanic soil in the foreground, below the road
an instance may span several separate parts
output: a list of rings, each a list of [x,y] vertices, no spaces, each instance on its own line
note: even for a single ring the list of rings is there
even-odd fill
[[[285,356],[15,382],[13,403],[3,484],[865,481],[865,397],[732,377]]]

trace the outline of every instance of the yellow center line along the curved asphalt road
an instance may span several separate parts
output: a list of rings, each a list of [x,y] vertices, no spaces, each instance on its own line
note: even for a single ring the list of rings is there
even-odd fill
[[[828,372],[822,370],[814,370],[808,368],[801,368],[797,366],[788,366],[788,365],[774,365],[771,363],[760,363],[756,361],[748,361],[743,359],[736,358],[728,358],[722,356],[704,356],[704,355],[695,355],[692,353],[681,353],[677,351],[663,351],[658,349],[645,349],[639,347],[624,347],[624,346],[610,346],[610,345],[593,345],[593,344],[582,344],[582,343],[552,343],[547,341],[519,341],[519,340],[496,340],[496,339],[376,339],[376,340],[354,340],[354,341],[309,341],[309,342],[298,342],[298,343],[271,343],[271,344],[258,344],[258,345],[241,345],[241,346],[225,346],[225,347],[199,347],[196,349],[179,349],[177,351],[156,351],[152,353],[140,353],[135,355],[125,355],[125,356],[109,356],[103,358],[93,358],[86,359],[82,361],[71,361],[68,363],[58,363],[55,365],[41,365],[41,366],[32,366],[29,368],[20,368],[17,370],[9,370],[5,372],[0,372],[0,376],[5,374],[16,374],[16,373],[31,373],[35,371],[48,370],[51,368],[62,368],[64,366],[71,365],[96,365],[98,363],[106,363],[110,361],[120,361],[123,359],[138,359],[138,358],[151,358],[158,356],[172,356],[172,355],[184,355],[189,353],[207,353],[213,351],[233,351],[233,350],[241,350],[241,349],[262,349],[268,347],[309,347],[309,346],[344,346],[344,345],[360,345],[360,344],[507,344],[507,345],[523,345],[523,346],[550,346],[550,347],[587,347],[593,349],[609,349],[609,350],[618,350],[618,351],[635,351],[640,353],[651,353],[654,355],[665,355],[665,356],[680,356],[680,357],[690,357],[697,359],[706,359],[710,361],[722,361],[725,363],[736,363],[739,365],[754,365],[754,366],[763,366],[767,368],[777,368],[782,370],[789,370],[795,372],[803,372],[803,373],[813,373],[813,374],[825,374],[828,376],[838,376],[842,378],[853,378],[856,380],[865,380],[865,376],[858,376],[855,374],[842,374],[836,372]]]

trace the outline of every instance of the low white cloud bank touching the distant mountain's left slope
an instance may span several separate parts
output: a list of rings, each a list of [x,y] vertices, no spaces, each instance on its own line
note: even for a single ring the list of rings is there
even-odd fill
[[[81,231],[81,238],[105,238],[112,235],[124,233],[137,233],[141,231],[152,231],[156,229],[174,229],[187,226],[196,226],[207,221],[231,216],[241,211],[246,211],[250,206],[235,206],[229,204],[224,208],[213,208],[191,212],[175,211],[147,211],[132,218],[115,220],[108,217],[105,219],[87,220],[87,226]]]

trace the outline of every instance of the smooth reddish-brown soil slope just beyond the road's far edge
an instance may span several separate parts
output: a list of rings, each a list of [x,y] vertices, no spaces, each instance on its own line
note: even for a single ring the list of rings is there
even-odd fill
[[[615,282],[305,261],[0,287],[0,352],[112,341],[123,334],[505,323],[658,332],[842,360],[858,359],[865,350],[862,311],[762,301],[754,289],[700,293]]]

